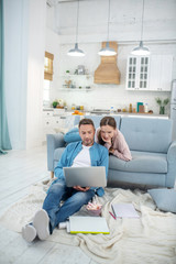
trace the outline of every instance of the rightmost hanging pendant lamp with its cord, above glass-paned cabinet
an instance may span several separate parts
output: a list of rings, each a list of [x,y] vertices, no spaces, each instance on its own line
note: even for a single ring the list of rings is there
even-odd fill
[[[142,6],[142,23],[141,23],[141,41],[138,47],[134,47],[131,54],[133,55],[150,55],[150,50],[146,46],[143,46],[143,18],[144,18],[144,0]]]

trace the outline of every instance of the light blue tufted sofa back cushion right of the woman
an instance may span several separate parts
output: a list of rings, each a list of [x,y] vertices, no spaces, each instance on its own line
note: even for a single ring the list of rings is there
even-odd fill
[[[122,118],[120,131],[131,151],[167,153],[172,142],[172,120]]]

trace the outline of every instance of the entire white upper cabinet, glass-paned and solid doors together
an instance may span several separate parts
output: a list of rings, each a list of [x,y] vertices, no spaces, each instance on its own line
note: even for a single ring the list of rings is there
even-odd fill
[[[128,90],[169,91],[173,56],[130,56],[127,67]]]

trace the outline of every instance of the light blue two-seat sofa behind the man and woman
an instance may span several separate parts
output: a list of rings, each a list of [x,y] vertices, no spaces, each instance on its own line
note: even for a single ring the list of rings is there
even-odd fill
[[[88,116],[94,120],[96,128],[99,127],[102,117]],[[131,188],[174,187],[176,179],[176,141],[172,142],[172,120],[120,116],[116,116],[116,120],[118,129],[123,133],[129,144],[132,161],[124,162],[110,155],[108,186]],[[64,134],[47,134],[48,170],[54,172],[65,146]]]

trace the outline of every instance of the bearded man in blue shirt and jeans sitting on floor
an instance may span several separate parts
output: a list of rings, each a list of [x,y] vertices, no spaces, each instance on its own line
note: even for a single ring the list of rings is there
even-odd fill
[[[105,194],[102,187],[67,187],[65,184],[63,167],[105,166],[108,176],[108,150],[95,142],[95,125],[90,119],[80,120],[79,134],[81,141],[68,144],[55,167],[57,179],[47,191],[43,209],[35,213],[33,223],[22,228],[22,235],[28,242],[32,242],[36,237],[46,240],[59,223],[79,211],[96,194],[98,196]],[[64,201],[63,206],[61,201]]]

